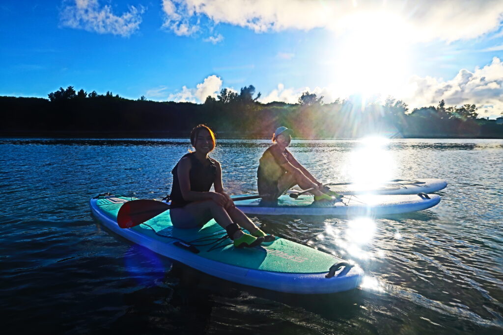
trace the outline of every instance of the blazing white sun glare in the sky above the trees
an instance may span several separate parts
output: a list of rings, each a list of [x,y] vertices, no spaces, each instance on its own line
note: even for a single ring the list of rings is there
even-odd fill
[[[334,78],[348,94],[400,94],[408,73],[407,24],[386,13],[347,17]]]

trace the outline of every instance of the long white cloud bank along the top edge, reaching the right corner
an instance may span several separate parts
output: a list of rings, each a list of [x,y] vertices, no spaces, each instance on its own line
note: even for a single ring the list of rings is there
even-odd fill
[[[305,0],[163,0],[164,27],[190,35],[198,31],[201,18],[213,24],[226,23],[255,32],[324,28],[344,33],[355,23],[392,17],[406,18],[402,27],[408,39],[455,41],[472,39],[498,29],[503,14],[500,0],[359,0],[320,2]],[[363,20],[362,20],[363,18]],[[369,29],[370,26],[369,26]],[[177,33],[178,34],[178,33]]]

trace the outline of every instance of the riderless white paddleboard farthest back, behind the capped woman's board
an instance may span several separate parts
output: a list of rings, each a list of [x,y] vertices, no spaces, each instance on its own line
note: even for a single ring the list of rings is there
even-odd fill
[[[443,179],[395,179],[384,183],[331,183],[328,187],[343,195],[350,194],[417,194],[440,191],[447,186]]]

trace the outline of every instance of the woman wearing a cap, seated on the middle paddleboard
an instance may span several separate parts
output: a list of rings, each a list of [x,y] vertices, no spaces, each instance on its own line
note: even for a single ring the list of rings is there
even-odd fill
[[[257,171],[259,194],[266,201],[276,201],[289,188],[299,185],[302,189],[314,188],[314,201],[328,202],[334,198],[320,191],[321,182],[316,180],[286,149],[292,141],[293,131],[279,127],[273,135],[273,145],[262,155]]]

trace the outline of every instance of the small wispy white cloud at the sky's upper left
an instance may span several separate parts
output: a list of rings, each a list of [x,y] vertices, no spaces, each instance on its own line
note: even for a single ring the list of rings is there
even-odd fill
[[[99,34],[128,37],[138,30],[144,12],[142,6],[129,6],[128,12],[116,16],[110,6],[100,7],[98,0],[75,0],[72,3],[64,3],[60,13],[61,26]]]

